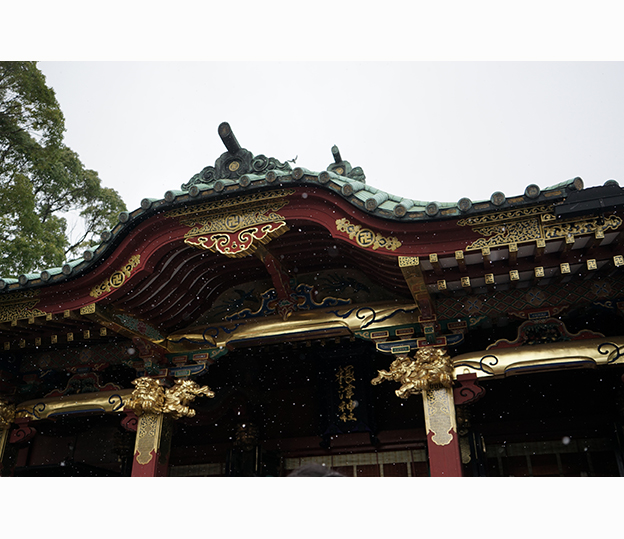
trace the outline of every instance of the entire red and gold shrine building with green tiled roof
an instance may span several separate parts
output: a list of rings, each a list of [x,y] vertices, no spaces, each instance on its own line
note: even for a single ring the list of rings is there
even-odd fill
[[[218,135],[0,279],[0,475],[624,475],[617,182],[423,202]]]

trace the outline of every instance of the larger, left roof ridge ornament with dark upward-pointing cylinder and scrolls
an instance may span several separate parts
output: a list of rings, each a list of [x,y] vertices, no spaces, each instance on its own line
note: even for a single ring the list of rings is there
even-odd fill
[[[292,170],[291,166],[282,163],[274,157],[263,154],[254,156],[243,148],[227,122],[222,122],[218,128],[219,137],[223,141],[227,152],[215,161],[214,167],[205,167],[199,174],[195,174],[181,189],[188,191],[196,184],[209,184],[216,180],[238,180],[245,174],[266,174],[269,170]]]

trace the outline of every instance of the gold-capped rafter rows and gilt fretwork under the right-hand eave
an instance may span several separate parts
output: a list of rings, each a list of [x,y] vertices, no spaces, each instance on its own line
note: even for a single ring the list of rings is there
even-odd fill
[[[616,214],[554,222],[548,207],[538,209],[541,213],[516,220],[510,215],[517,212],[502,213],[507,220],[496,214],[460,220],[460,226],[472,226],[485,237],[466,241],[460,251],[421,257],[429,292],[472,294],[487,286],[526,287],[604,274],[622,265],[617,240],[622,219]]]

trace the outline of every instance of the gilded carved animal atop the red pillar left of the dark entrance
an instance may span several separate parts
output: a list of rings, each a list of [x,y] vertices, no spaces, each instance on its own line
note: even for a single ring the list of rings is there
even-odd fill
[[[132,384],[128,407],[137,416],[144,414],[168,414],[174,419],[193,417],[195,410],[189,405],[196,397],[204,395],[213,398],[214,392],[208,386],[200,386],[193,380],[176,380],[173,387],[165,388],[158,380],[149,377],[138,378]]]

